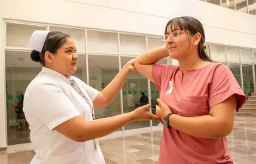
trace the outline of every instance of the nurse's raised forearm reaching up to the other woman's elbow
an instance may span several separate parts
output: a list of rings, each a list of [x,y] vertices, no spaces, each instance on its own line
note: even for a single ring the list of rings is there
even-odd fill
[[[114,77],[114,79],[107,85],[107,87],[102,91],[106,105],[111,103],[113,99],[118,95],[122,86],[124,86],[124,82],[129,74],[128,68],[122,68],[118,74]]]

